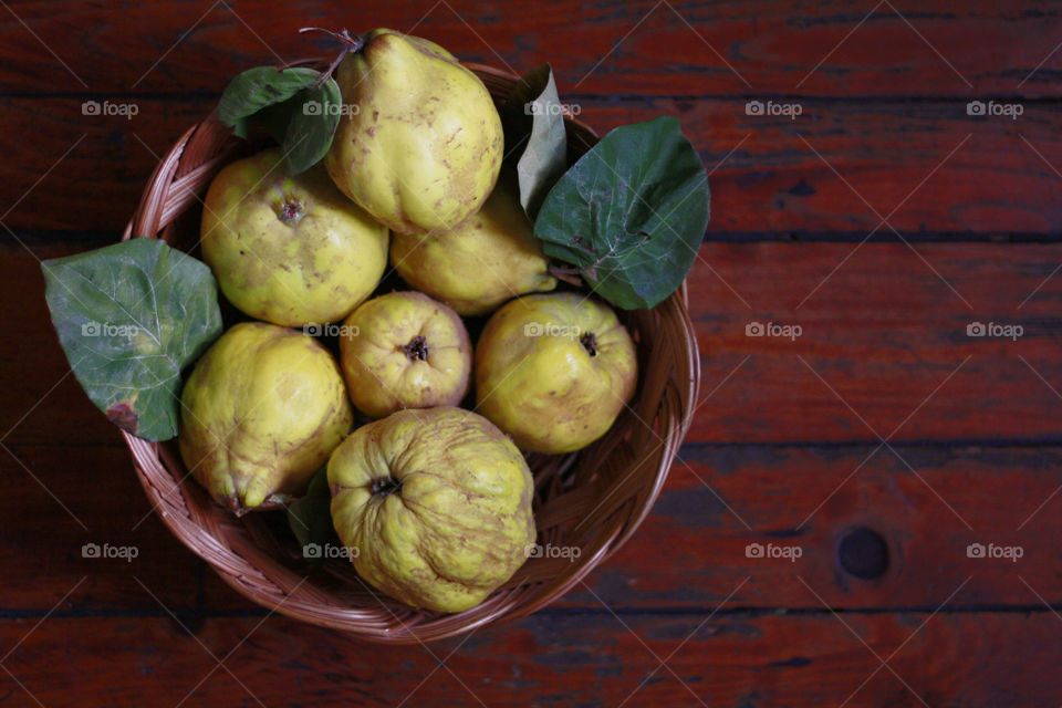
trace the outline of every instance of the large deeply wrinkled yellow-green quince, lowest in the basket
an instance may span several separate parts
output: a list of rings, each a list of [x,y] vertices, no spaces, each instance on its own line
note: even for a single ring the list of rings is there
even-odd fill
[[[523,456],[461,408],[400,410],[358,428],[327,476],[332,522],[357,573],[413,607],[479,604],[534,543]]]

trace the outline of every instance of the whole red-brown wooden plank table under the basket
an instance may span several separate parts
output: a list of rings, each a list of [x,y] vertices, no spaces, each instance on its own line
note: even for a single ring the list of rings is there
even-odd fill
[[[0,705],[1062,702],[1062,4],[100,4],[0,10]],[[654,513],[552,607],[427,647],[225,586],[44,308],[38,260],[116,240],[231,75],[320,53],[310,24],[550,61],[591,125],[676,115],[711,173],[701,400]]]

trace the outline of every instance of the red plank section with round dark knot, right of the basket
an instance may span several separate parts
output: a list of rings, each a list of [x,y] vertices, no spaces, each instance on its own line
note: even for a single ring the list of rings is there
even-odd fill
[[[852,610],[933,608],[960,586],[956,607],[1062,598],[1060,448],[687,446],[681,457],[593,592],[566,603],[710,606],[740,586],[736,606],[814,608],[804,581]],[[840,561],[856,529],[885,545],[878,568]],[[996,558],[970,558],[975,543]],[[848,548],[873,560],[873,546]]]

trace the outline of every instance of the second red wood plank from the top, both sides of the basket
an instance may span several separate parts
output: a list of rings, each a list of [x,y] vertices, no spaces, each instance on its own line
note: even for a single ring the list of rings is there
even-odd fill
[[[86,118],[79,101],[0,98],[4,222],[20,232],[121,231],[156,158],[214,101],[136,98],[139,113],[126,119]],[[795,121],[746,115],[743,98],[579,105],[602,133],[664,114],[681,119],[712,170],[709,239],[857,242],[886,216],[916,240],[1062,232],[1062,115],[1054,104],[1030,104],[1018,121],[970,117],[956,102],[803,101]],[[44,238],[56,236],[65,238]],[[888,226],[879,236],[894,238]]]

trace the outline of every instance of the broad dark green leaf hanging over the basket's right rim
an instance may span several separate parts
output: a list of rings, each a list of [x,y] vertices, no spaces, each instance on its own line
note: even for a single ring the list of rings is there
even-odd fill
[[[534,222],[543,250],[624,310],[654,308],[697,258],[708,176],[678,118],[621,126],[556,183]]]

